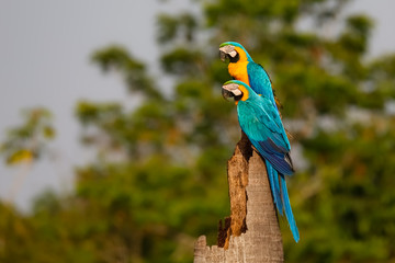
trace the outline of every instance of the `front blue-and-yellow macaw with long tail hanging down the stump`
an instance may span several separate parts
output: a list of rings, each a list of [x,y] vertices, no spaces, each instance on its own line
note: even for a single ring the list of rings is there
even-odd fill
[[[224,98],[234,98],[242,132],[264,158],[274,204],[289,221],[292,235],[297,242],[298,230],[292,214],[284,175],[294,173],[290,157],[291,145],[282,125],[272,98],[258,95],[248,84],[230,80],[223,85]]]

